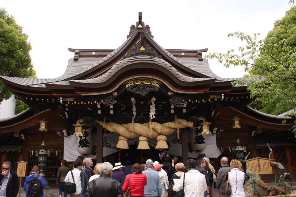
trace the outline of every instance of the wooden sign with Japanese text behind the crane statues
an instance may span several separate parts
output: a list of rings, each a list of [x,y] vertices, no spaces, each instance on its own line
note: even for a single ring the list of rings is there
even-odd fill
[[[249,170],[257,173],[258,175],[272,174],[272,167],[269,165],[269,159],[256,157],[248,159]],[[248,165],[248,164],[247,164]]]

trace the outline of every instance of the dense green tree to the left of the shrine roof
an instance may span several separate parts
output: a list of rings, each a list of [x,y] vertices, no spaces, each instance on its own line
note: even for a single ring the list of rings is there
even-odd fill
[[[12,15],[0,9],[0,75],[36,78],[31,64],[28,35],[22,32]],[[12,92],[0,81],[0,103],[9,99]]]

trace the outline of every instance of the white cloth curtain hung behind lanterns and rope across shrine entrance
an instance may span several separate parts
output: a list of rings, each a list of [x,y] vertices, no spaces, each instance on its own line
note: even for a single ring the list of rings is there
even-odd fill
[[[93,133],[93,151],[84,157],[91,157],[92,159],[96,158],[96,133]],[[118,142],[118,133],[111,133],[111,134],[103,134],[103,157],[118,152],[116,148]],[[180,135],[181,137],[181,135]],[[208,158],[217,158],[221,155],[220,149],[216,145],[216,135],[205,135],[207,146],[202,151],[197,150],[189,150],[189,157],[190,158],[197,158],[199,154],[205,154]],[[139,144],[139,138],[128,139],[128,145]],[[178,139],[177,131],[173,134],[167,136],[167,142],[169,144],[168,151],[164,150],[165,153],[169,153],[170,155],[182,156],[182,139]],[[149,139],[148,144],[153,148],[156,147],[157,140],[156,138]],[[190,152],[191,151],[191,152]],[[78,156],[83,156],[77,151],[77,137],[76,136],[67,136],[64,140],[64,159],[67,161],[75,161]]]

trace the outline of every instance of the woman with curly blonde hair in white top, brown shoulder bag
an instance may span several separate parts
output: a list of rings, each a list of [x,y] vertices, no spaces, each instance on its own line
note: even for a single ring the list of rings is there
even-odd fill
[[[230,197],[246,197],[244,192],[244,172],[242,172],[242,163],[236,159],[230,162],[229,182],[231,186]]]

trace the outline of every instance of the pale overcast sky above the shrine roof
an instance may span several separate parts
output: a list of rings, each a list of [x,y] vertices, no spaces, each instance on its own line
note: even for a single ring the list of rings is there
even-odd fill
[[[261,33],[264,39],[274,21],[284,17],[288,0],[179,1],[2,1],[0,7],[15,17],[29,36],[32,63],[38,78],[56,78],[77,49],[115,49],[131,25],[142,21],[165,49],[203,49],[226,52],[245,45],[229,32]],[[242,77],[242,67],[224,68],[210,60],[221,77]]]

